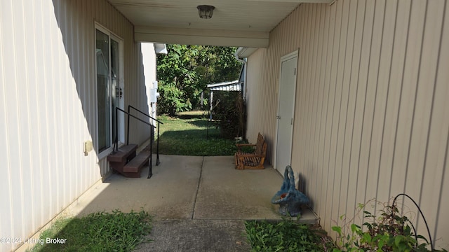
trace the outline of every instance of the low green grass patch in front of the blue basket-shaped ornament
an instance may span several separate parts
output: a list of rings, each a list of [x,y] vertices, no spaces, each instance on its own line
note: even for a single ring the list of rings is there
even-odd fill
[[[332,239],[326,232],[310,225],[284,219],[279,223],[246,221],[246,238],[251,251],[332,251]]]

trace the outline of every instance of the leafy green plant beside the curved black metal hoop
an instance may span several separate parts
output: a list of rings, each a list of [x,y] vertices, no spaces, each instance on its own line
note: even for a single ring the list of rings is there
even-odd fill
[[[350,233],[345,234],[341,226],[333,226],[332,230],[338,234],[337,246],[339,246],[334,248],[333,252],[439,251],[429,250],[428,247],[431,246],[429,241],[422,235],[417,235],[410,220],[399,214],[395,204],[396,198],[393,204],[384,205],[384,209],[380,210],[380,217],[369,211],[363,211],[364,218],[369,221],[363,223],[362,227],[352,223],[349,225]],[[366,204],[358,205],[359,211],[365,207]],[[344,216],[340,216],[340,219],[343,218]],[[445,249],[442,251],[447,252]]]

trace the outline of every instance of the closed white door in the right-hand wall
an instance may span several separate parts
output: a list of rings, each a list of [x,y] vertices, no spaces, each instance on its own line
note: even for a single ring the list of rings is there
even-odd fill
[[[281,58],[281,79],[279,80],[279,106],[276,137],[276,169],[283,174],[291,165],[293,143],[293,121],[295,114],[295,92],[297,72],[297,51]]]

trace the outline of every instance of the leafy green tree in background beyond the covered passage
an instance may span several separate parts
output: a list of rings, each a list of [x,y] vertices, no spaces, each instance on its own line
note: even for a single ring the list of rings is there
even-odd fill
[[[167,50],[167,55],[157,56],[158,113],[173,116],[196,109],[208,84],[239,78],[241,62],[234,57],[236,48],[168,45]]]

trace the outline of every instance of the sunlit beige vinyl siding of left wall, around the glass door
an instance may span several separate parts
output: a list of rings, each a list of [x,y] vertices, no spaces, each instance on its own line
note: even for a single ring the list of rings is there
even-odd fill
[[[123,39],[126,106],[148,109],[147,97],[133,25],[107,1],[7,0],[0,11],[0,234],[26,238],[110,172],[83,153],[97,141],[95,22]]]

